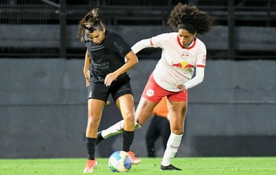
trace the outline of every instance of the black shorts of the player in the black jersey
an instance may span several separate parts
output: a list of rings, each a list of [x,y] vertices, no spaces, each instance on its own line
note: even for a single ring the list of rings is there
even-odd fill
[[[106,102],[110,94],[112,95],[112,98],[115,102],[120,96],[125,94],[132,94],[129,81],[124,83],[122,83],[122,81],[113,81],[110,86],[106,86],[101,82],[90,82],[87,99],[98,99]]]

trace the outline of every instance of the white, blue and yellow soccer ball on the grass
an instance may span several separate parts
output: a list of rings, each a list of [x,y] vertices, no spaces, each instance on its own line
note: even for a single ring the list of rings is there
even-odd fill
[[[112,172],[128,172],[132,166],[130,155],[124,151],[113,152],[108,160]]]

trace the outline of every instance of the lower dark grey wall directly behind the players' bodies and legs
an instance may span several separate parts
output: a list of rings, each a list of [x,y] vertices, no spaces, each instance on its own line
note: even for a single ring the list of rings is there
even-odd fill
[[[129,71],[136,105],[155,64],[141,60]],[[189,90],[177,156],[276,156],[275,67],[267,60],[207,61],[204,82]],[[86,158],[83,60],[0,59],[0,70],[0,158]],[[100,130],[120,119],[115,104],[107,105]],[[146,156],[148,124],[135,132],[137,156]],[[121,143],[121,134],[108,138],[96,156]]]

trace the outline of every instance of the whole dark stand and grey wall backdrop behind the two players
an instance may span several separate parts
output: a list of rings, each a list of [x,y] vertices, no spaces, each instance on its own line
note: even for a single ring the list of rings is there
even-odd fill
[[[0,2],[0,158],[86,157],[87,104],[79,21],[92,8],[129,45],[164,32],[177,3],[215,18],[197,37],[207,48],[204,82],[189,90],[177,156],[276,156],[275,0],[2,0]],[[135,105],[161,50],[137,54],[128,73]],[[100,130],[121,120],[110,99]],[[132,151],[146,156],[148,123]],[[122,136],[97,155],[121,149]],[[157,141],[157,156],[163,155]],[[107,151],[108,150],[108,151]]]

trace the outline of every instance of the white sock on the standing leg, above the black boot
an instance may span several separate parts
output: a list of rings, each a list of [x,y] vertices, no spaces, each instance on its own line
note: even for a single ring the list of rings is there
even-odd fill
[[[177,150],[181,143],[182,136],[183,134],[176,135],[170,132],[170,137],[168,138],[167,148],[165,150],[161,165],[170,165],[170,161],[172,161],[172,158],[174,158],[175,154],[177,154]]]

